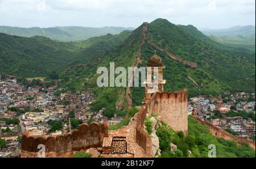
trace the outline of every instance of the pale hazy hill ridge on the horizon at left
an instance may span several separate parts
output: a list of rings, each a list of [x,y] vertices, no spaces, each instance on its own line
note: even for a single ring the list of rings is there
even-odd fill
[[[8,27],[0,26],[0,32],[9,35],[32,37],[32,36],[44,36],[52,40],[59,41],[80,41],[86,40],[90,37],[106,35],[108,33],[117,35],[125,30],[132,30],[133,28],[123,27],[51,27],[51,28],[20,28],[20,27]]]

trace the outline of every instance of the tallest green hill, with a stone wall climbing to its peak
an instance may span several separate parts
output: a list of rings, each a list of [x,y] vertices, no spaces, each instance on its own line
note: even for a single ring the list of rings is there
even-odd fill
[[[64,88],[63,91],[93,87],[98,97],[92,109],[106,108],[107,115],[115,112],[124,115],[127,105],[124,96],[126,88],[98,88],[96,71],[99,66],[108,67],[110,61],[115,62],[115,67],[134,66],[142,40],[143,25],[135,29],[123,43],[105,53],[96,65],[76,67],[68,74],[62,74],[61,77],[69,81],[63,81],[59,87]],[[190,67],[172,59],[165,52],[156,49],[148,39],[185,62],[195,62],[197,67]],[[196,96],[199,95],[201,85],[201,94],[218,95],[226,90],[255,91],[255,53],[217,43],[193,26],[176,26],[166,19],[156,19],[149,23],[146,40],[141,48],[142,64],[139,66],[146,65],[155,49],[166,66],[164,79],[167,79],[167,83],[164,90],[167,92],[186,87],[189,96]],[[131,96],[133,105],[141,105],[144,88],[131,87]],[[121,112],[117,105],[121,105]]]

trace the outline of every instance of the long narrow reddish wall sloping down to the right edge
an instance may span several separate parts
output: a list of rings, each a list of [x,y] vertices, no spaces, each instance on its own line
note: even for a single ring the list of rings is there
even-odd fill
[[[242,145],[243,143],[248,143],[250,145],[250,147],[252,147],[255,150],[255,142],[253,142],[251,140],[247,140],[245,138],[236,137],[233,134],[230,134],[230,133],[226,132],[225,130],[222,130],[222,129],[217,128],[216,126],[210,124],[210,122],[201,120],[197,116],[192,116],[192,117],[195,118],[197,121],[199,121],[201,124],[209,126],[210,133],[212,133],[213,136],[224,138],[225,140],[235,141],[235,142],[237,142],[238,145]]]

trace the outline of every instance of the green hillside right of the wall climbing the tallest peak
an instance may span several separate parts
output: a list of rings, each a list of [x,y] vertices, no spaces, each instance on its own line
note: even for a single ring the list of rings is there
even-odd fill
[[[147,37],[156,45],[170,51],[184,61],[196,62],[190,68],[157,50],[166,69],[163,77],[167,80],[167,92],[188,89],[189,97],[199,95],[197,84],[203,84],[201,94],[218,95],[224,91],[255,91],[255,52],[229,47],[211,40],[193,26],[176,26],[166,19],[156,19],[148,24]],[[154,54],[155,47],[144,43],[142,64]],[[246,66],[245,66],[246,65]],[[141,105],[144,88],[132,87],[133,105]]]

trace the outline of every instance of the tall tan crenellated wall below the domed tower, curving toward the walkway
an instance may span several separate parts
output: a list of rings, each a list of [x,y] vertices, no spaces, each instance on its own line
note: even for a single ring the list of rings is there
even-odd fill
[[[157,113],[161,121],[166,122],[172,129],[183,131],[185,136],[188,133],[188,113],[187,113],[187,89],[175,92],[157,92],[142,105],[136,115],[136,142],[145,151],[148,157],[152,157],[151,137],[144,130],[144,119],[146,115]]]

